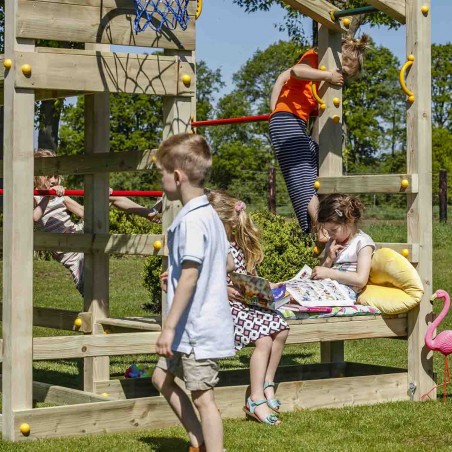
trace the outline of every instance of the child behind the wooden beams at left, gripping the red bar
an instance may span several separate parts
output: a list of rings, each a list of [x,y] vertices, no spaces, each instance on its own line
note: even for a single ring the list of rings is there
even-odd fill
[[[53,151],[39,149],[35,152],[35,158],[55,157]],[[70,214],[80,218],[84,216],[84,208],[77,201],[64,196],[64,187],[61,186],[61,177],[57,175],[35,176],[35,189],[53,189],[56,195],[34,196],[33,221],[38,230],[57,233],[83,233],[83,221],[74,223]],[[161,201],[148,209],[123,196],[110,196],[110,203],[128,214],[140,215],[153,222],[159,222],[158,212],[161,209]],[[60,252],[52,253],[53,257],[61,262],[70,272],[75,287],[83,296],[83,253]]]

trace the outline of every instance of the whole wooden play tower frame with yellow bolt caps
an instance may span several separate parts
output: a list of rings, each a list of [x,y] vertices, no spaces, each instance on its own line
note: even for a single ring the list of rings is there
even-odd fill
[[[285,2],[319,23],[320,64],[340,67],[341,37],[347,30],[332,17],[336,8],[325,0]],[[196,1],[189,2],[186,30],[163,27],[139,34],[132,27],[135,11],[130,0],[5,3],[3,438],[30,440],[175,424],[175,416],[152,392],[149,379],[110,379],[109,356],[153,353],[161,328],[149,319],[109,318],[108,255],[164,255],[166,250],[154,247],[156,241],[164,243],[164,235],[108,234],[108,173],[147,170],[153,164],[150,151],[109,153],[109,94],[164,96],[162,138],[190,131],[195,113]],[[414,101],[407,100],[407,174],[342,176],[342,112],[341,104],[333,104],[334,97],[342,99],[341,90],[322,85],[319,96],[326,108],[316,126],[321,148],[319,192],[403,192],[407,243],[385,246],[407,254],[426,291],[420,307],[407,315],[293,321],[288,343],[320,342],[321,363],[280,369],[278,397],[288,410],[418,400],[434,384],[431,356],[423,344],[432,285],[430,2],[368,3],[406,23],[407,55],[414,57],[406,78],[414,93]],[[84,49],[37,47],[36,40],[81,42]],[[164,50],[162,55],[116,53],[111,45]],[[35,162],[35,101],[76,95],[85,96],[85,154]],[[84,234],[33,233],[33,175],[55,173],[85,176]],[[176,208],[166,205],[164,230]],[[33,308],[34,249],[85,253],[80,312]],[[72,330],[75,320],[77,335],[33,338],[33,325]],[[110,334],[105,334],[107,330]],[[344,361],[344,340],[381,337],[408,339],[408,369]],[[33,360],[71,358],[84,359],[84,391],[33,382]],[[222,373],[215,393],[224,417],[243,415],[248,378],[247,371]],[[34,400],[64,405],[33,409]]]

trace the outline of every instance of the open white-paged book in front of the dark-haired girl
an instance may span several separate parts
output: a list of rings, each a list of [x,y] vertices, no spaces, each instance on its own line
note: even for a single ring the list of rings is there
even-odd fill
[[[287,292],[301,306],[353,306],[355,299],[333,279],[311,279],[312,269],[305,265],[286,281]]]

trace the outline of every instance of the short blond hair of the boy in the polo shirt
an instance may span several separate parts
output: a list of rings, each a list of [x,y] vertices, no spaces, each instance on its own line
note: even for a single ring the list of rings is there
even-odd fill
[[[193,185],[203,187],[209,178],[212,153],[201,135],[173,135],[160,145],[156,156],[158,165],[170,172],[183,170]]]

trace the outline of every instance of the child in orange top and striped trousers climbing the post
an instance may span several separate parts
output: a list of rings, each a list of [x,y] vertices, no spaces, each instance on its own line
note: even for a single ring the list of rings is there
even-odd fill
[[[317,109],[311,88],[326,81],[342,86],[344,77],[356,76],[362,68],[368,37],[347,37],[342,42],[342,71],[321,71],[318,54],[308,50],[277,78],[271,94],[270,140],[287,185],[290,200],[303,232],[315,225],[319,205],[314,182],[318,176],[319,145],[309,136],[307,122]],[[323,237],[319,238],[324,241]]]

